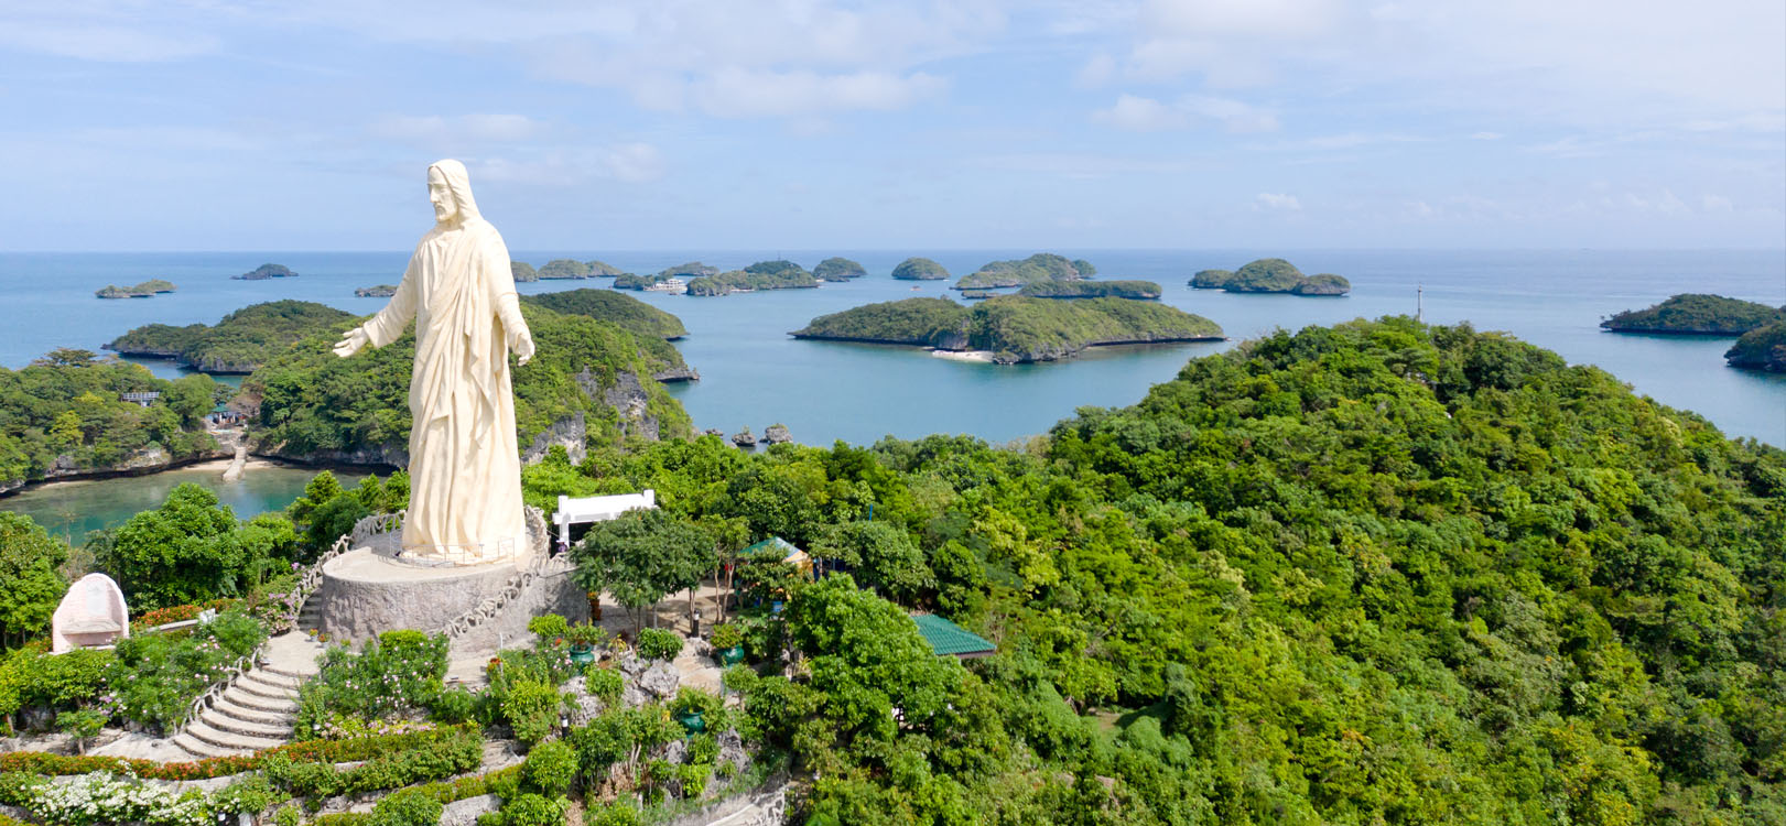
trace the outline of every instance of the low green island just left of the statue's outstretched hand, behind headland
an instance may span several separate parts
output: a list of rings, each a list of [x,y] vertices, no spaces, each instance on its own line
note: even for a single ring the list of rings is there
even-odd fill
[[[334,307],[288,298],[243,307],[214,326],[138,326],[113,339],[105,350],[175,359],[200,373],[254,373],[298,339],[329,332],[352,318]]]

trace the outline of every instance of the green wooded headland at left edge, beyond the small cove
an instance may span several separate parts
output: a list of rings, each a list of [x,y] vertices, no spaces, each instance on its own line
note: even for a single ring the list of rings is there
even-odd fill
[[[0,491],[129,462],[179,462],[216,450],[204,417],[227,387],[211,376],[155,378],[89,350],[55,350],[23,369],[0,368]],[[148,407],[125,392],[155,392]],[[159,450],[159,453],[157,453]]]

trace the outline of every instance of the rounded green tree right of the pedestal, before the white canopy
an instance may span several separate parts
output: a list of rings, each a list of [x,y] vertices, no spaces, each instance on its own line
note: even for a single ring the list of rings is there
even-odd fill
[[[668,510],[632,510],[597,523],[572,548],[573,576],[591,592],[607,592],[641,628],[639,608],[700,583],[718,558],[713,537]]]

